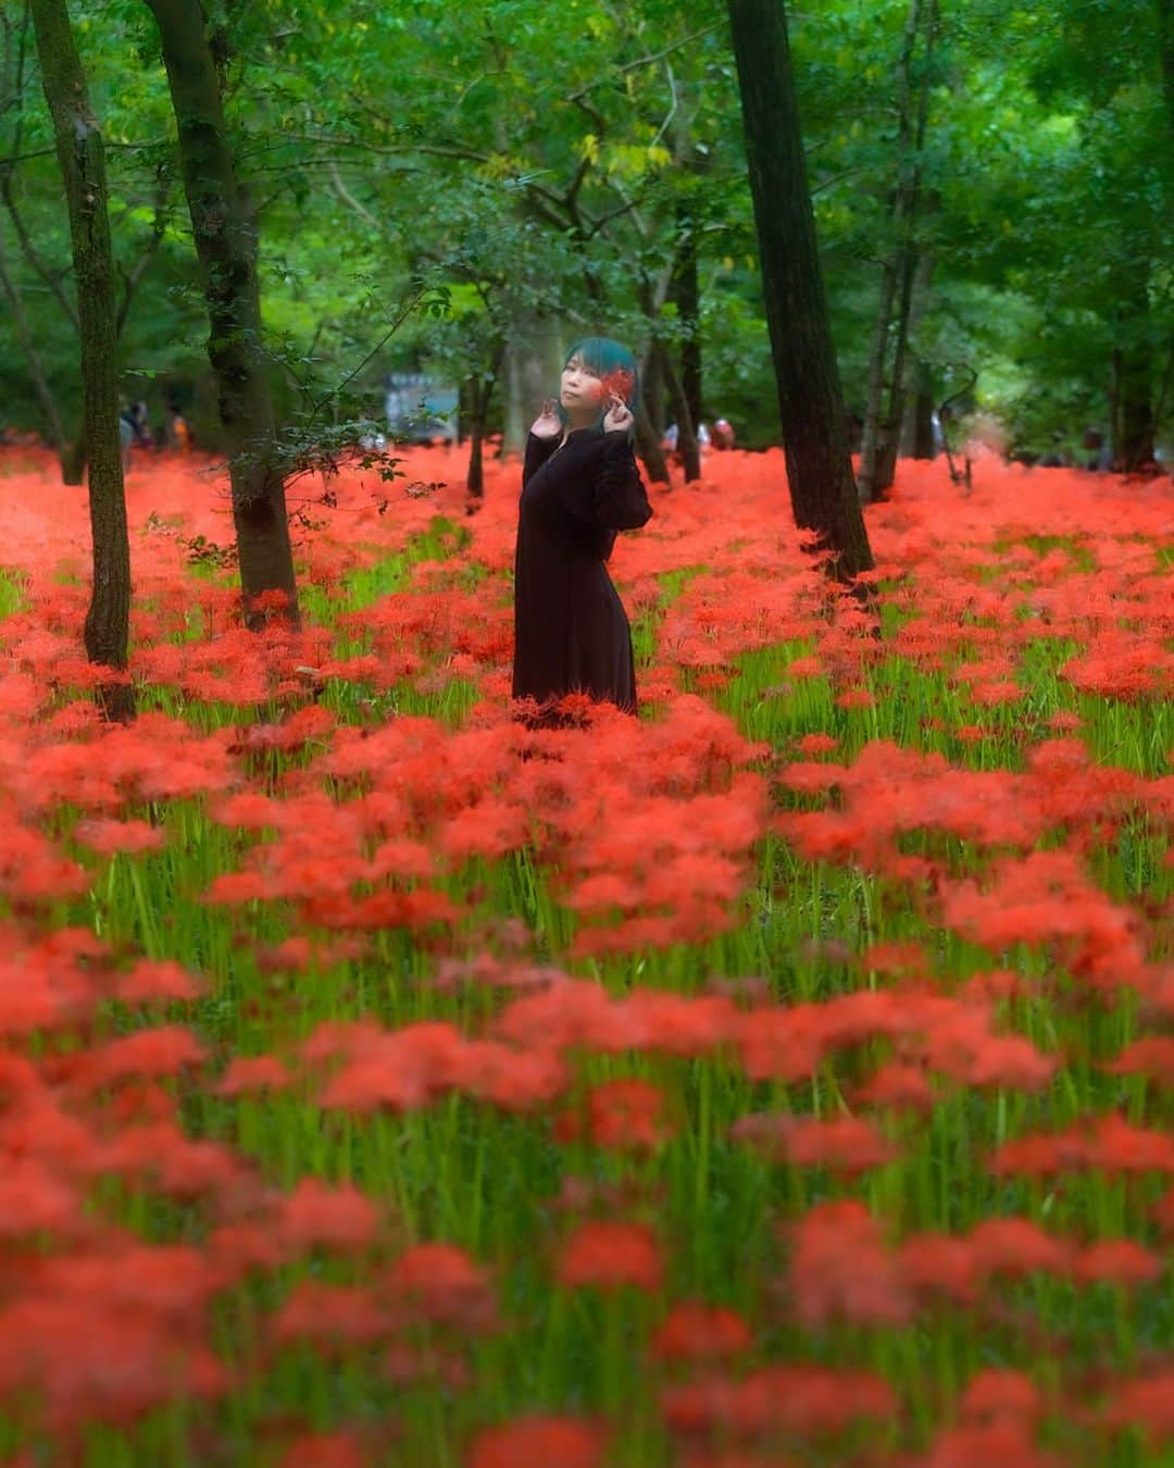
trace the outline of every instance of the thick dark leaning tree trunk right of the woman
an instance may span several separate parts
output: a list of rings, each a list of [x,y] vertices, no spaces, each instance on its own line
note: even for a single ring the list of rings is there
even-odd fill
[[[828,324],[784,0],[728,0],[795,523],[835,574],[872,570]]]

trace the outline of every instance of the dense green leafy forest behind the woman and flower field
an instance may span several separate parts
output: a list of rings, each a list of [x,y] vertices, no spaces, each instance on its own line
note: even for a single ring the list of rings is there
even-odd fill
[[[562,346],[649,364],[655,426],[778,442],[725,6],[208,6],[288,424],[459,385],[517,446]],[[217,448],[158,31],[70,15],[107,145],[123,398]],[[819,244],[858,433],[930,408],[1011,454],[1118,464],[1174,402],[1171,0],[826,0],[790,16]],[[0,6],[0,426],[76,432],[62,182],[25,0]],[[879,417],[878,417],[879,415]],[[872,423],[870,423],[872,417]]]

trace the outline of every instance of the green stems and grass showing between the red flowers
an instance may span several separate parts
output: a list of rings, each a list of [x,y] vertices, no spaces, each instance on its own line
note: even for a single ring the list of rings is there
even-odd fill
[[[414,564],[452,556],[465,545],[459,527],[437,520],[402,555],[355,573],[330,592],[311,589],[305,615],[332,624],[345,612],[368,609],[405,590]],[[1043,553],[1051,543],[1033,548]],[[468,567],[465,574],[478,571]],[[690,573],[662,578],[660,606],[634,630],[641,662],[653,655],[665,606],[688,580]],[[0,615],[16,609],[19,595],[15,578],[0,577]],[[339,639],[340,656],[354,650],[352,640]],[[788,665],[810,650],[809,643],[791,643],[743,656],[718,697],[748,738],[769,746],[757,768],[770,781],[794,756],[794,741],[810,733],[835,737],[838,747],[829,757],[844,765],[870,741],[892,740],[907,750],[944,755],[958,769],[1021,771],[1027,747],[1049,737],[1048,719],[1071,712],[1080,715],[1082,737],[1099,762],[1151,780],[1164,772],[1174,747],[1170,705],[1074,693],[1060,675],[1073,647],[1058,640],[1029,644],[1020,672],[1023,700],[993,709],[973,708],[948,668],[926,671],[897,655],[878,658],[866,675],[875,706],[844,709],[835,703],[829,678],[788,675]],[[430,694],[405,684],[384,696],[361,683],[336,681],[323,703],[345,724],[376,730],[396,715],[420,713],[451,731],[464,724],[475,697],[475,684],[461,678]],[[144,703],[191,718],[198,731],[255,718],[229,705],[188,708],[167,690],[156,690]],[[264,716],[279,712],[274,708]],[[958,737],[967,722],[982,725],[979,740]],[[311,743],[307,752],[271,756],[261,766],[266,781],[279,788],[317,753]],[[822,804],[772,788],[778,810]],[[1129,997],[1101,1000],[1082,989],[1082,975],[1068,969],[1062,944],[1017,944],[992,954],[942,926],[927,890],[866,865],[804,860],[787,841],[768,835],[750,853],[751,878],[737,922],[701,942],[571,957],[578,920],[559,900],[558,872],[522,850],[496,862],[473,859],[443,878],[440,885],[462,912],[443,941],[436,934],[434,944],[420,942],[405,929],[389,928],[376,932],[360,957],[274,972],[267,962],[274,944],[295,934],[321,941],[329,935],[308,931],[288,903],[229,910],[204,901],[211,879],[236,869],[252,838],[211,821],[203,799],[125,813],[161,822],[169,834],[164,850],[97,859],[69,835],[76,812],[59,807],[53,813],[53,829],[92,869],[92,885],[84,898],[60,903],[51,920],[88,928],[116,953],[175,959],[205,975],[207,994],[191,1020],[213,1050],[211,1073],[232,1055],[291,1055],[330,1020],[368,1017],[387,1029],[451,1020],[465,1033],[481,1032],[502,1000],[483,985],[453,988],[436,979],[445,957],[506,953],[500,938],[506,918],[524,925],[525,962],[558,963],[597,979],[615,997],[637,985],[697,995],[713,979],[759,978],[776,1006],[819,1004],[861,985],[889,986],[889,978],[858,964],[866,948],[886,942],[916,944],[945,994],[976,973],[1005,967],[1036,986],[1001,1001],[1002,1028],[1030,1038],[1062,1064],[1038,1092],[947,1085],[927,1119],[883,1119],[882,1130],[898,1145],[898,1155],[858,1177],[772,1163],[734,1142],[729,1129],[750,1111],[823,1117],[857,1111],[854,1088],[889,1051],[878,1038],[836,1048],[792,1083],[751,1080],[729,1054],[690,1060],[637,1048],[574,1057],[577,1092],[616,1078],[650,1079],[663,1088],[677,1129],[647,1155],[559,1144],[542,1111],[512,1116],[459,1092],[420,1111],[364,1119],[323,1111],[311,1082],[282,1095],[227,1100],[207,1080],[191,1078],[178,1094],[192,1136],[226,1144],[282,1189],[307,1176],[352,1182],[386,1208],[390,1221],[371,1252],[310,1254],[222,1292],[213,1339],[239,1373],[223,1403],[207,1415],[204,1408],[176,1403],[135,1428],[92,1428],[79,1461],[95,1468],[276,1462],[276,1449],[261,1445],[280,1437],[285,1420],[323,1431],[371,1428],[376,1436],[393,1420],[395,1434],[377,1449],[377,1461],[456,1465],[478,1425],[550,1411],[605,1415],[613,1427],[609,1461],[615,1464],[669,1464],[679,1459],[656,1390],[672,1373],[647,1364],[647,1345],[665,1304],[685,1298],[744,1312],[754,1330],[751,1365],[858,1367],[892,1383],[901,1402],[895,1418],[873,1433],[856,1428],[838,1446],[773,1442],[773,1449],[794,1452],[794,1461],[848,1462],[853,1450],[864,1449],[925,1453],[933,1433],[957,1412],[967,1380],[988,1368],[1029,1373],[1045,1392],[1057,1393],[1045,1412],[1042,1442],[1061,1461],[1120,1468],[1170,1461],[1136,1437],[1087,1437],[1065,1405],[1102,1368],[1129,1376],[1155,1352],[1168,1351],[1174,1314],[1164,1280],[1129,1293],[1033,1274],[992,1286],[973,1311],[926,1308],[908,1324],[804,1326],[791,1309],[787,1227],[834,1199],[864,1201],[894,1242],[923,1232],[964,1235],[986,1218],[1021,1214],[1073,1240],[1124,1235],[1156,1245],[1151,1221],[1162,1191],[1156,1176],[1123,1180],[1093,1170],[1054,1180],[999,1179],[983,1166],[1008,1139],[1061,1130],[1092,1111],[1121,1107],[1136,1124],[1167,1130],[1174,1122],[1170,1091],[1109,1076],[1093,1064],[1148,1031]],[[1049,832],[1048,841],[1060,844],[1061,835]],[[992,862],[991,853],[967,841],[926,829],[907,832],[900,849],[955,875],[982,873]],[[1086,860],[1114,901],[1168,915],[1174,900],[1168,854],[1168,828],[1156,812],[1136,810],[1093,844]],[[1174,957],[1168,925],[1155,922],[1148,941],[1151,962]],[[172,1013],[181,1022],[186,1017],[182,1009]],[[142,1016],[114,1007],[106,1011],[103,1031],[129,1032],[141,1023]],[[668,1261],[660,1296],[637,1290],[606,1296],[552,1283],[552,1261],[568,1229],[556,1198],[569,1176],[602,1199],[597,1207],[655,1224]],[[176,1205],[142,1188],[101,1185],[95,1198],[107,1217],[153,1243],[201,1248],[217,1223],[205,1204]],[[417,1326],[411,1333],[417,1345],[464,1359],[465,1386],[398,1383],[387,1374],[382,1349],[349,1348],[338,1359],[307,1346],[261,1349],[266,1321],[299,1282],[365,1289],[401,1246],[434,1239],[459,1245],[489,1267],[499,1293],[502,1324],[489,1334],[452,1326]],[[0,1449],[25,1447],[32,1449],[32,1461],[50,1461],[48,1439],[41,1437],[38,1446],[37,1434],[15,1420],[0,1427]]]

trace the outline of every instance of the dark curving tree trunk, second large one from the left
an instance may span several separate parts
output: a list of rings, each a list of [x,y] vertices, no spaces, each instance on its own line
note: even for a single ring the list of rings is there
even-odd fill
[[[261,351],[257,235],[236,178],[200,0],[147,0],[158,25],[179,164],[208,305],[208,361],[229,451],[245,625],[298,621],[276,420]]]

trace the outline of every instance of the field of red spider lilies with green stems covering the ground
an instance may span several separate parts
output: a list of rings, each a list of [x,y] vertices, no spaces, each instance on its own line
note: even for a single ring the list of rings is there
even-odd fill
[[[517,462],[0,457],[0,1462],[1174,1453],[1174,487],[905,464],[876,602],[782,457],[655,495],[638,721],[511,715]]]

